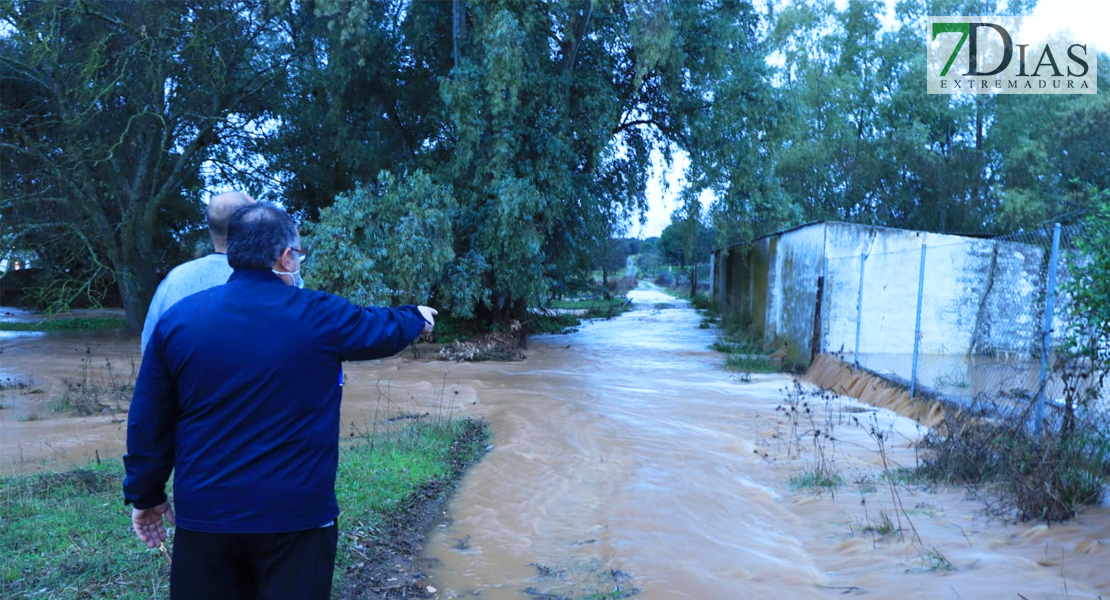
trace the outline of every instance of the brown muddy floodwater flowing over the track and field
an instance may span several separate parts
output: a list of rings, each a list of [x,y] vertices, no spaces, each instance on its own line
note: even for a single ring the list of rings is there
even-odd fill
[[[533,337],[519,363],[406,354],[347,365],[344,435],[402,416],[471,416],[494,430],[426,541],[432,597],[581,599],[617,586],[650,600],[1110,594],[1107,508],[1007,523],[963,489],[891,489],[884,460],[915,464],[917,423],[850,398],[791,399],[788,376],[724,370],[695,311],[656,291],[632,297],[620,317]],[[72,417],[46,398],[71,389],[61,378],[88,370],[81,359],[93,375],[105,363],[130,372],[135,338],[0,345],[8,472],[118,459],[111,400]],[[835,495],[796,485],[815,467],[840,479]]]

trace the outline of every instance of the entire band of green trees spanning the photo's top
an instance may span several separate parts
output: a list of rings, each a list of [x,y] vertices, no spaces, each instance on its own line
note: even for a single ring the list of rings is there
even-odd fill
[[[930,6],[884,30],[877,0],[7,0],[0,240],[47,270],[40,304],[118,286],[138,328],[206,189],[245,187],[320,222],[324,288],[505,322],[623,255],[696,264],[806,220],[1077,218],[1110,187],[1110,94],[926,94]],[[626,252],[653,164],[679,155],[687,225]]]

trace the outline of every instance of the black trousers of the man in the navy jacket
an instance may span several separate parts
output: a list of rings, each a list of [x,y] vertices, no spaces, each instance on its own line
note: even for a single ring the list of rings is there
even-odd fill
[[[286,533],[204,533],[178,528],[172,600],[327,600],[335,525]]]

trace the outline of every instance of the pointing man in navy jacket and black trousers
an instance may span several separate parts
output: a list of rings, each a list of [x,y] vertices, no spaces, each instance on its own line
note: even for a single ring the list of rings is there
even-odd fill
[[[165,540],[163,517],[178,526],[173,599],[330,596],[340,364],[401,352],[436,311],[300,289],[305,256],[285,212],[240,209],[231,278],[167,311],[143,355],[123,494],[148,546]]]

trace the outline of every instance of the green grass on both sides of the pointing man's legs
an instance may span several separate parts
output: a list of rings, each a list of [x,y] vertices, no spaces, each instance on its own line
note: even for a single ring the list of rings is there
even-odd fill
[[[352,532],[376,530],[408,509],[417,490],[452,476],[460,458],[453,445],[464,445],[464,461],[482,454],[484,437],[460,440],[464,424],[408,425],[341,449],[337,566],[353,560]],[[165,560],[131,531],[122,478],[119,464],[0,478],[0,597],[169,597]],[[364,546],[373,541],[373,535],[362,539]]]

